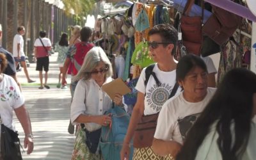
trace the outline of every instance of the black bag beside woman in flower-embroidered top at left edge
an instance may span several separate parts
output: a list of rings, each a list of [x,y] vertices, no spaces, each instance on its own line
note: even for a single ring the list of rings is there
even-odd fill
[[[3,160],[22,159],[18,135],[17,131],[14,132],[1,123],[1,157]]]

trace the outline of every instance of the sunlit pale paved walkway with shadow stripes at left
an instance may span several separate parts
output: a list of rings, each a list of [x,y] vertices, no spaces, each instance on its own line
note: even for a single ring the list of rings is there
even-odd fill
[[[75,136],[67,132],[70,114],[69,89],[56,88],[58,83],[57,53],[50,57],[49,81],[50,89],[39,90],[38,72],[35,63],[31,63],[29,75],[36,83],[28,84],[24,71],[17,73],[22,84],[22,93],[26,99],[26,108],[30,113],[31,125],[34,134],[34,151],[31,155],[23,154],[24,159],[70,159],[74,146]],[[70,82],[70,78],[67,79]],[[20,143],[23,146],[24,132],[17,122]]]

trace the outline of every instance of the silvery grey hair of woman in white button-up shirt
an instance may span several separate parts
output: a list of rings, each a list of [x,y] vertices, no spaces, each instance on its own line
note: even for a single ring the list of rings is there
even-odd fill
[[[83,65],[76,76],[73,77],[72,81],[79,81],[80,79],[90,79],[90,72],[93,71],[95,67],[97,67],[103,61],[108,67],[108,72],[106,72],[106,78],[113,76],[112,65],[108,59],[108,56],[103,51],[101,47],[93,47],[90,51],[87,52]]]

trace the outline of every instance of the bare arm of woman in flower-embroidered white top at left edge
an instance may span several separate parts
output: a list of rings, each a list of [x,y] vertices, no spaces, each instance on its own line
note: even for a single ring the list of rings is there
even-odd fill
[[[30,134],[32,134],[32,129],[31,129],[29,113],[26,110],[24,104],[19,108],[14,109],[14,111],[25,133],[24,147],[25,148],[28,147],[27,154],[31,154],[31,152],[33,152],[34,144],[33,144],[33,139],[30,136]]]

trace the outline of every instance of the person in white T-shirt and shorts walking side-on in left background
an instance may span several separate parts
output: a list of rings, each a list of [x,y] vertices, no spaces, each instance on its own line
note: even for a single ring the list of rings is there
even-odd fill
[[[32,79],[30,79],[29,74],[28,74],[28,69],[27,69],[27,64],[26,64],[26,59],[25,59],[25,53],[24,53],[24,40],[23,40],[23,35],[25,34],[25,28],[24,26],[19,26],[17,28],[17,34],[13,38],[13,57],[15,60],[16,67],[18,63],[20,62],[22,67],[24,68],[24,73],[27,77],[28,83],[33,83]]]

